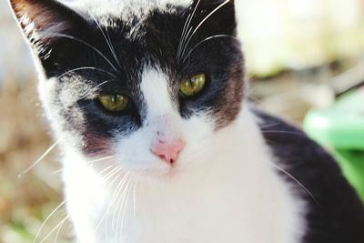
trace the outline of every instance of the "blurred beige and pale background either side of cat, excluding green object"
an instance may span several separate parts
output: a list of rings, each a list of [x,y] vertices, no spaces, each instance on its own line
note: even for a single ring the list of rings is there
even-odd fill
[[[313,137],[320,134],[315,125],[322,127],[322,119],[311,120],[364,80],[364,1],[236,1],[249,98],[304,124]],[[357,103],[364,114],[364,101],[347,103]],[[60,224],[64,208],[53,213],[62,202],[56,148],[27,169],[53,142],[37,99],[30,52],[5,0],[0,2],[0,114],[0,243],[33,242],[37,234],[36,242],[71,242],[71,228]],[[353,124],[364,127],[358,121]],[[363,134],[356,135],[358,143]],[[364,159],[364,144],[354,150]]]

